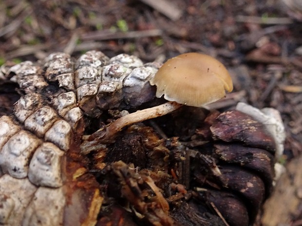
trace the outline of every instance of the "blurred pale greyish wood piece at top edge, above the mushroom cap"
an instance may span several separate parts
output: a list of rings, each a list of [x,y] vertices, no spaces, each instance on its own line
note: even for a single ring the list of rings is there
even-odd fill
[[[164,14],[166,17],[170,18],[171,20],[177,20],[181,17],[182,10],[180,10],[173,1],[168,2],[166,0],[141,0],[145,4],[151,6],[152,8],[156,9],[158,12]]]

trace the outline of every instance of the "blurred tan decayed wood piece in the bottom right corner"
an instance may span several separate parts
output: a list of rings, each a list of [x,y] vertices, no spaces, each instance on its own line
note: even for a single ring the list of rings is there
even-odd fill
[[[302,156],[293,159],[264,204],[264,226],[288,225],[302,205]]]

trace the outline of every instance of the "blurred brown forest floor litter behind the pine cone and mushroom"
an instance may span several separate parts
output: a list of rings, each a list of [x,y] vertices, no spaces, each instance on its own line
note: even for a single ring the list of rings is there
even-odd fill
[[[302,0],[0,0],[0,65],[93,49],[144,62],[184,52],[216,57],[235,87],[216,107],[278,109],[283,164],[302,153],[301,34]]]

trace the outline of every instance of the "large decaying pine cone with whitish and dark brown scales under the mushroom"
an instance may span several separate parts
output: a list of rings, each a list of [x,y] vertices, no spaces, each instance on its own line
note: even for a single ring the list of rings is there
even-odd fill
[[[272,190],[275,144],[244,113],[184,107],[162,119],[169,139],[146,123],[112,144],[82,139],[162,102],[149,84],[159,67],[98,51],[3,65],[21,97],[0,118],[0,225],[253,224]]]

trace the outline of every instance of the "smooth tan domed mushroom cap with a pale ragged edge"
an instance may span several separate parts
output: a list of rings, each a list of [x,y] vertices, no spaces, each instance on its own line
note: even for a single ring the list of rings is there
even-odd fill
[[[190,52],[169,59],[150,81],[156,97],[200,107],[226,96],[233,90],[225,66],[215,58]]]

